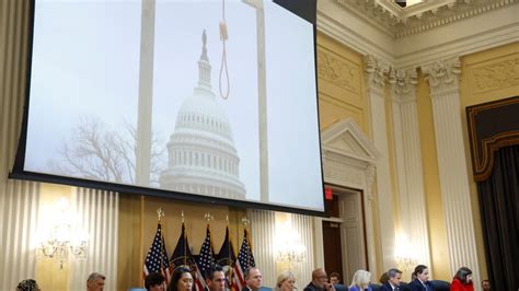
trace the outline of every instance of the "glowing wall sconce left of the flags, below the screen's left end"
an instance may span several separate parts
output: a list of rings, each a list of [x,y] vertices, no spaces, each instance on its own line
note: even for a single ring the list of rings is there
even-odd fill
[[[59,268],[64,268],[66,260],[70,258],[86,258],[88,233],[77,228],[77,214],[69,210],[68,201],[60,198],[57,202],[57,212],[46,234],[41,235],[39,253],[48,258],[59,261]]]

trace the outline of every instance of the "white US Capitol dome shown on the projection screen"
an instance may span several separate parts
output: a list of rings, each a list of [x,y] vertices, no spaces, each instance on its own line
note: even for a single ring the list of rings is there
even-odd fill
[[[204,31],[198,85],[176,116],[168,142],[168,168],[160,176],[160,185],[175,191],[245,199],[231,124],[211,90],[206,43]]]

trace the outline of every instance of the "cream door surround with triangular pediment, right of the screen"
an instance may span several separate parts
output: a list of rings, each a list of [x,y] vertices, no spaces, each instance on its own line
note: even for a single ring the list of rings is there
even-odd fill
[[[341,140],[349,140],[349,143],[355,143],[356,146],[350,148],[337,147],[337,141]],[[337,121],[323,130],[321,132],[321,143],[324,182],[358,189],[364,193],[368,265],[371,272],[378,273],[374,249],[373,208],[380,206],[376,202],[378,200],[373,198],[376,195],[372,193],[372,189],[376,163],[381,158],[381,153],[368,137],[362,133],[353,118]],[[392,222],[388,224],[392,228]],[[314,233],[315,264],[323,266],[322,219],[320,218],[314,219]],[[379,235],[379,237],[383,238],[382,235]]]

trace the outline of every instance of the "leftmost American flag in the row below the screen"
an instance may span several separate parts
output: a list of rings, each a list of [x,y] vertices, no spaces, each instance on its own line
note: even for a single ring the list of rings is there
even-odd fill
[[[157,226],[155,236],[150,251],[148,251],[148,255],[146,256],[143,271],[145,277],[150,272],[160,272],[164,276],[165,282],[170,282],[170,259],[168,257],[168,252],[165,251],[165,242],[160,223]]]

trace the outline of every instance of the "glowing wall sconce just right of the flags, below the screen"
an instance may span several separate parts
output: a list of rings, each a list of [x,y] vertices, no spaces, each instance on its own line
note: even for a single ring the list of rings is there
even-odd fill
[[[307,247],[301,244],[301,237],[288,221],[278,225],[275,236],[274,254],[277,261],[286,261],[291,265],[304,260]]]

